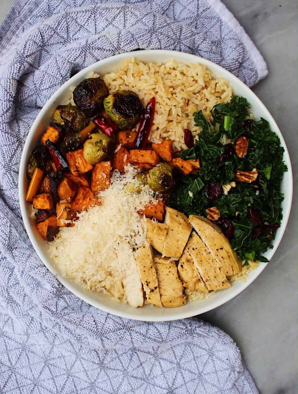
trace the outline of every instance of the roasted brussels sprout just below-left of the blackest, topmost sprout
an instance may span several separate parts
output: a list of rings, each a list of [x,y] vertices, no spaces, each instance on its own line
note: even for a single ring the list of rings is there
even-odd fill
[[[75,105],[67,104],[57,107],[53,115],[54,122],[63,125],[67,132],[78,133],[89,123],[88,117]]]

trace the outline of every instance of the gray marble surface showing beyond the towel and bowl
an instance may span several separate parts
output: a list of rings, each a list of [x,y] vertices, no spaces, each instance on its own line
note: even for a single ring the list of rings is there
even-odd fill
[[[200,316],[232,336],[261,394],[297,393],[297,2],[222,0],[257,45],[268,76],[253,91],[289,148],[294,199],[285,236],[244,292]],[[13,0],[1,0],[2,20]]]

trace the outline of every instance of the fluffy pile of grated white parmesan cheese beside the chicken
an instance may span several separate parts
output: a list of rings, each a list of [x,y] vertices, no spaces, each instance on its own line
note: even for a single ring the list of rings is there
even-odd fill
[[[146,239],[145,217],[137,211],[151,201],[158,203],[155,192],[136,179],[133,166],[127,165],[125,171],[115,170],[110,188],[97,194],[101,206],[78,214],[75,226],[61,228],[49,243],[50,256],[62,276],[124,301],[123,278],[130,267],[135,269],[134,250]],[[140,192],[127,191],[128,183]]]

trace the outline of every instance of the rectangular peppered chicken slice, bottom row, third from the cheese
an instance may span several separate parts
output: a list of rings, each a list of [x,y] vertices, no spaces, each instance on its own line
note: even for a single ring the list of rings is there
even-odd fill
[[[158,286],[161,301],[164,307],[174,308],[186,304],[183,294],[183,285],[179,279],[175,262],[170,261],[156,263]]]

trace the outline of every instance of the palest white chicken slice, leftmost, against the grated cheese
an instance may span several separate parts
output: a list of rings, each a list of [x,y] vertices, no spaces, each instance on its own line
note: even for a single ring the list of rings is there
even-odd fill
[[[133,308],[142,307],[144,303],[142,281],[137,262],[133,256],[127,262],[123,284],[129,305]]]

